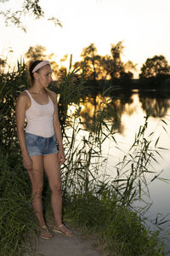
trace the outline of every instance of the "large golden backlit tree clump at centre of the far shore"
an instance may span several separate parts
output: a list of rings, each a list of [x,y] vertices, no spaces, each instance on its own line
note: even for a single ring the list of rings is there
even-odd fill
[[[111,44],[111,55],[101,56],[97,54],[97,48],[94,44],[89,44],[88,47],[82,49],[82,61],[77,61],[75,67],[83,69],[84,78],[95,81],[96,79],[123,79],[128,76],[133,78],[133,73],[130,70],[135,70],[135,65],[132,61],[123,63],[122,52],[124,46],[122,42]]]

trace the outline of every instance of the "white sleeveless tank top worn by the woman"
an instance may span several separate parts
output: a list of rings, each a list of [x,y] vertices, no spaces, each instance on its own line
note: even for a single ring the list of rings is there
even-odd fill
[[[26,132],[41,137],[52,137],[54,135],[54,102],[48,96],[48,104],[38,104],[31,93],[28,90],[25,91],[31,99],[31,107],[26,110]]]

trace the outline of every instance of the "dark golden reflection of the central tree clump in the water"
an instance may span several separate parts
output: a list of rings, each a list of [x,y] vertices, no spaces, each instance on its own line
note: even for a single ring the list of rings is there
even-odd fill
[[[96,126],[96,122],[99,120],[99,115],[103,114],[105,122],[109,121],[114,126],[114,130],[122,133],[124,128],[122,125],[122,113],[126,110],[129,104],[133,103],[133,96],[131,93],[123,94],[117,93],[114,96],[87,96],[85,101],[82,102],[81,107],[81,121],[85,129],[92,130]],[[129,111],[129,114],[133,113],[133,108]]]

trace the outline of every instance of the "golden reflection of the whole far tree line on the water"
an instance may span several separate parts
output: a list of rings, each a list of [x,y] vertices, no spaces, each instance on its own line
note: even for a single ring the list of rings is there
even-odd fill
[[[81,121],[84,128],[93,130],[96,121],[99,119],[100,111],[105,113],[103,118],[109,121],[114,127],[114,131],[122,134],[124,124],[122,115],[133,115],[137,108],[142,108],[146,113],[150,109],[150,116],[163,118],[170,108],[170,93],[165,91],[116,91],[114,96],[87,96],[85,102],[81,103]]]

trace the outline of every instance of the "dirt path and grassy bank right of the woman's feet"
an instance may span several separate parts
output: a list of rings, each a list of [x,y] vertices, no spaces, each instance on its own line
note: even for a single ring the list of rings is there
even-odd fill
[[[52,239],[44,240],[38,236],[36,239],[34,236],[24,256],[165,255],[158,233],[149,233],[145,230],[134,212],[127,211],[125,208],[121,211],[116,209],[115,221],[112,220],[111,222],[109,212],[105,211],[104,208],[101,211],[102,204],[96,207],[96,201],[93,200],[91,203],[90,201],[91,199],[88,199],[87,204],[87,199],[84,201],[84,199],[80,200],[79,197],[76,205],[76,202],[72,201],[72,205],[69,204],[65,208],[65,211],[68,211],[65,212],[66,225],[73,231],[73,237],[54,234]],[[82,204],[84,205],[83,209]],[[77,207],[76,211],[74,210],[75,207]],[[107,203],[105,207],[108,207]],[[85,208],[86,211],[84,211]],[[53,226],[51,209],[48,208],[46,213],[48,227],[51,230]]]

